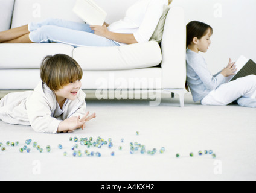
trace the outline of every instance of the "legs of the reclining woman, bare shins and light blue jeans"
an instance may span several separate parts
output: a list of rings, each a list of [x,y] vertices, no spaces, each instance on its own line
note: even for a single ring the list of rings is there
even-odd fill
[[[4,31],[0,34],[0,42],[1,41],[2,43],[58,42],[75,47],[119,45],[113,40],[95,35],[94,30],[91,30],[88,24],[65,21],[62,19],[46,19],[42,22],[32,22],[23,27]]]

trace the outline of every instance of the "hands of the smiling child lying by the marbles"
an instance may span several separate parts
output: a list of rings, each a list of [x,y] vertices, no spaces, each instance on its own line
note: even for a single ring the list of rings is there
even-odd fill
[[[78,129],[78,128],[85,128],[85,123],[87,121],[90,121],[92,118],[96,117],[96,114],[93,113],[92,115],[88,116],[89,112],[87,112],[85,114],[85,116],[83,116],[80,119],[80,116],[74,116],[68,119],[65,119],[64,121],[60,122],[57,133],[63,132],[63,133],[72,133],[74,130]]]

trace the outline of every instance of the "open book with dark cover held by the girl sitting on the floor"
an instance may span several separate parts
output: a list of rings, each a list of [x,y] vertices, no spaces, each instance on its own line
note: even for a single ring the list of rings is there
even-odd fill
[[[228,77],[228,81],[237,80],[237,78],[246,77],[252,74],[256,75],[256,63],[251,59],[246,59],[243,55],[241,55],[237,62],[235,62],[235,66],[237,66],[237,72],[235,75]]]

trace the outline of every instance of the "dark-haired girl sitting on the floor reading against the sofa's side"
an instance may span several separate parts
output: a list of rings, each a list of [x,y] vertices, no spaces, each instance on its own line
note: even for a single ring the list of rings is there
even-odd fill
[[[211,44],[213,28],[199,21],[187,24],[187,90],[194,102],[203,105],[225,106],[232,102],[244,107],[256,107],[256,75],[238,78],[227,83],[226,77],[237,71],[235,62],[216,75],[211,75],[205,59],[199,52],[207,52]]]

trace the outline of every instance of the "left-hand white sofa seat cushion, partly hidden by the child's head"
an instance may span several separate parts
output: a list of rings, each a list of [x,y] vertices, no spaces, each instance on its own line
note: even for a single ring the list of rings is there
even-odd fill
[[[62,53],[72,57],[73,49],[62,43],[0,43],[0,69],[39,69],[46,55]]]

